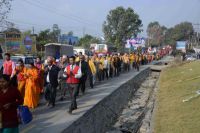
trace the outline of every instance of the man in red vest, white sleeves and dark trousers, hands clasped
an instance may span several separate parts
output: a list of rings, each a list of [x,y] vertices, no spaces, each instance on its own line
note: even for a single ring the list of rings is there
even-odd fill
[[[81,78],[81,68],[75,64],[75,57],[71,56],[69,58],[69,63],[65,68],[65,74],[67,78],[67,85],[68,89],[70,91],[71,96],[71,105],[69,107],[69,113],[71,114],[73,110],[77,109],[77,102],[76,97],[78,96],[78,84],[79,84],[79,78]]]

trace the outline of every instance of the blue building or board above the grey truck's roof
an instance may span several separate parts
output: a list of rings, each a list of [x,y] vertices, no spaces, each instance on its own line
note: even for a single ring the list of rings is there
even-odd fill
[[[76,45],[78,44],[78,37],[73,35],[62,34],[58,38],[58,42],[61,44]]]

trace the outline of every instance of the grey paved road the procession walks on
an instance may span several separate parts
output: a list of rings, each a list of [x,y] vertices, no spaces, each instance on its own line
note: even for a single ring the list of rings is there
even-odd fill
[[[145,69],[148,66],[142,66]],[[69,100],[57,101],[55,108],[39,106],[33,111],[33,121],[20,127],[22,133],[60,133],[87,110],[91,109],[100,100],[108,96],[120,85],[131,79],[138,72],[130,71],[123,73],[120,77],[109,79],[95,86],[94,89],[87,89],[84,96],[78,98],[78,109],[72,115],[68,114]]]

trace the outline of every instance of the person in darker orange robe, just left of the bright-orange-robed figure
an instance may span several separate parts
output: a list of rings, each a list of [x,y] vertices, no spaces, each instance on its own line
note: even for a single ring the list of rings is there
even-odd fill
[[[17,76],[18,90],[23,98],[25,95],[25,85],[26,85],[26,79],[24,77],[25,72],[26,72],[26,67],[24,66],[24,62],[22,59],[19,59],[14,74]]]

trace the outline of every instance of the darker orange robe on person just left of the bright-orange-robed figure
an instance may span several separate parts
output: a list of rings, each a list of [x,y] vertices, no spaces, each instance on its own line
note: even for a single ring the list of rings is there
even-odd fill
[[[24,77],[24,74],[26,70],[27,70],[26,67],[15,68],[15,74],[17,74],[17,81],[18,81],[18,90],[20,91],[23,98],[25,95],[26,78]]]

